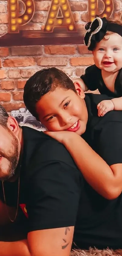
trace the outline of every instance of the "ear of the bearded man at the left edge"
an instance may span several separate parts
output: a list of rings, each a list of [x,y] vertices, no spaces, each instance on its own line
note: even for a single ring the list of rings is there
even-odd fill
[[[16,136],[18,136],[20,128],[17,120],[14,117],[8,117],[7,126]]]

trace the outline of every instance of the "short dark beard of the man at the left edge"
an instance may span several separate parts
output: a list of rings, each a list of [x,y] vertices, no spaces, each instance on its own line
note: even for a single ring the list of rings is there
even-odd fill
[[[10,131],[10,134],[12,136],[12,141],[11,141],[11,150],[9,150],[8,154],[3,153],[2,156],[5,157],[8,160],[8,168],[7,168],[7,173],[5,175],[2,175],[0,180],[5,181],[10,178],[12,178],[13,175],[16,174],[16,169],[18,165],[18,160],[19,160],[19,146],[18,146],[18,139],[13,135],[13,133]],[[0,169],[0,172],[2,169]]]

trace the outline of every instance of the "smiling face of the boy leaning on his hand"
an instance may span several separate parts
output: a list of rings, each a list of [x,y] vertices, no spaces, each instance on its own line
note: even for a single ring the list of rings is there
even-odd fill
[[[81,135],[86,130],[87,107],[84,92],[76,85],[78,93],[57,87],[45,94],[36,104],[38,117],[49,131],[72,131]]]

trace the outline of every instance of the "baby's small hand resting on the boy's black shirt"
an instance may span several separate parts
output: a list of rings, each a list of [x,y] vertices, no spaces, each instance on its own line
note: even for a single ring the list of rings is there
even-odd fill
[[[98,116],[103,117],[107,112],[114,110],[114,103],[111,100],[102,100],[98,105]]]

